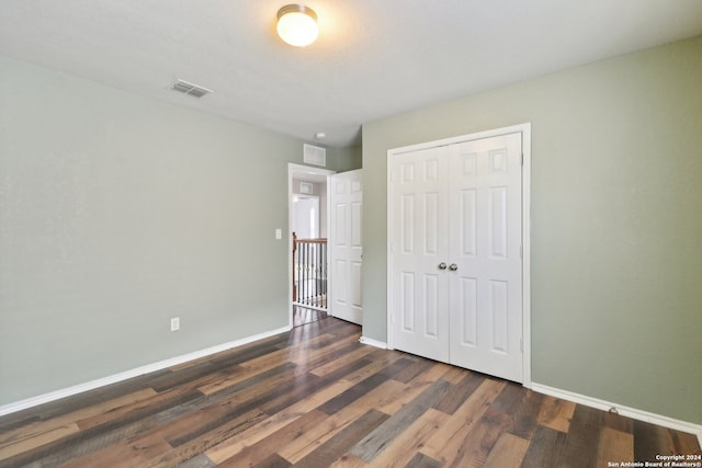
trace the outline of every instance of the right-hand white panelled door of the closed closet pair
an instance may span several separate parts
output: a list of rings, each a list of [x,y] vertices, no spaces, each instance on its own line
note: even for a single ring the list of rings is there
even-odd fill
[[[449,149],[451,363],[516,381],[522,381],[521,146],[521,134],[511,134]]]

